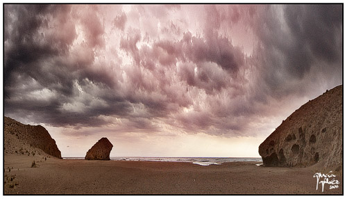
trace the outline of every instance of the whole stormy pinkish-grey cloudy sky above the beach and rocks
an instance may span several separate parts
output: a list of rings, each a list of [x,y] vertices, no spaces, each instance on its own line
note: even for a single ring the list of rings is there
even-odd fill
[[[5,116],[62,156],[258,157],[342,83],[341,5],[4,6]]]

